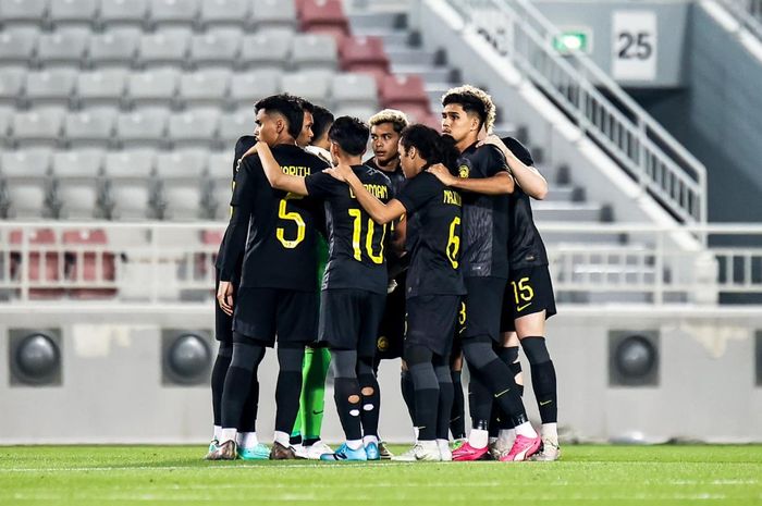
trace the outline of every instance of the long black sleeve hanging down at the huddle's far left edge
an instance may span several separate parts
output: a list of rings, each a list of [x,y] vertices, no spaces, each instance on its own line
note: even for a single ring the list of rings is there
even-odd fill
[[[248,235],[248,222],[254,209],[254,192],[256,188],[255,157],[245,158],[235,174],[233,197],[231,198],[231,215],[225,233],[226,239],[220,251],[220,280],[233,281],[236,267],[243,259]]]

